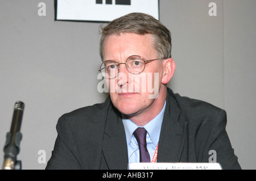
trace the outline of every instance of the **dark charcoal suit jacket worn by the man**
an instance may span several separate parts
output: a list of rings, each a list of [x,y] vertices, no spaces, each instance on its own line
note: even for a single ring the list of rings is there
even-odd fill
[[[210,150],[222,169],[241,169],[225,131],[226,113],[167,90],[158,162],[208,162]],[[121,113],[110,98],[60,117],[46,169],[127,169]]]

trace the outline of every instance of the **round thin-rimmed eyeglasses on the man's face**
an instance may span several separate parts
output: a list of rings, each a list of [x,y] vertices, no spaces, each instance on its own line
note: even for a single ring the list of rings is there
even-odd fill
[[[130,73],[139,74],[139,73],[142,73],[142,71],[145,69],[145,66],[147,63],[154,60],[162,60],[162,58],[156,58],[156,59],[145,61],[141,56],[133,55],[128,57],[125,63],[120,63],[120,64],[125,64],[126,69]],[[102,62],[100,70],[98,71],[101,71],[102,75],[105,78],[112,79],[117,77],[120,69],[120,66],[119,66],[120,64],[117,64],[112,60],[106,60]]]

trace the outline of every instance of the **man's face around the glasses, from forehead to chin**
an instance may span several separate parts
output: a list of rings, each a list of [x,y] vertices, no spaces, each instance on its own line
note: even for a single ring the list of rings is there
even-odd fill
[[[130,56],[138,55],[145,61],[158,57],[153,48],[152,35],[137,35],[134,33],[121,33],[109,35],[104,42],[104,61],[112,60],[117,64],[125,63]],[[164,74],[163,61],[155,60],[146,64],[141,74],[132,74],[125,64],[119,65],[119,74],[113,79],[106,79],[109,85],[110,98],[114,106],[125,115],[138,115],[149,112],[156,102],[164,101],[159,91],[165,89],[161,83]],[[145,79],[146,78],[146,79]],[[152,92],[152,90],[154,90]],[[152,98],[156,95],[157,98]]]

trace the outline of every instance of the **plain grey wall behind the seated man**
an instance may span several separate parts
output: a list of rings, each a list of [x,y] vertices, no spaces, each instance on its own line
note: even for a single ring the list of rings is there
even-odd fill
[[[46,16],[38,16],[38,3]],[[217,16],[209,16],[210,2]],[[227,131],[242,169],[256,169],[255,0],[160,0],[160,20],[172,33],[175,92],[226,110]],[[65,112],[103,102],[97,91],[98,26],[54,21],[53,1],[0,1],[0,149],[16,100],[26,106],[18,159],[44,169]],[[0,151],[0,165],[3,151]]]

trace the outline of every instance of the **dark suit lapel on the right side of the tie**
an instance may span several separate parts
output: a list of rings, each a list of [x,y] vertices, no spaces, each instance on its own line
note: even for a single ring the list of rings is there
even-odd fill
[[[168,90],[167,106],[159,138],[158,162],[180,161],[187,122],[178,121],[179,116],[180,109],[171,90]]]

